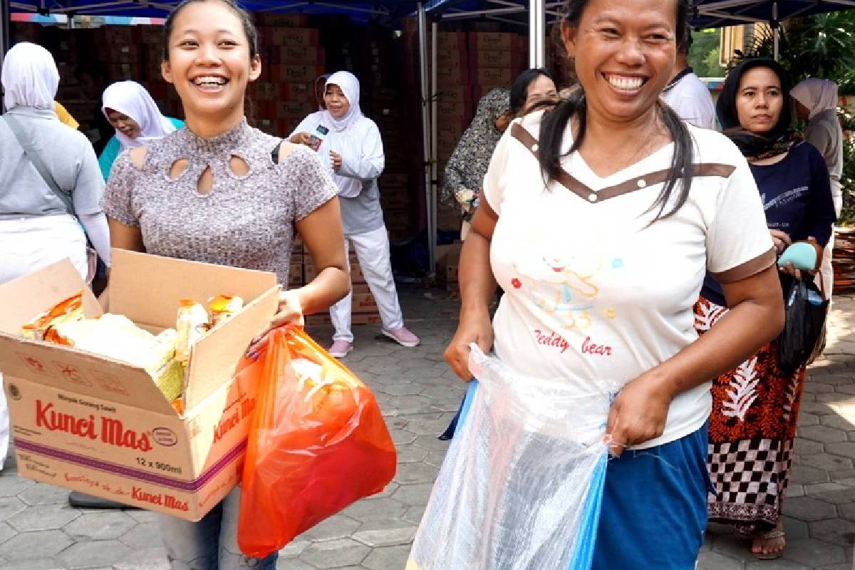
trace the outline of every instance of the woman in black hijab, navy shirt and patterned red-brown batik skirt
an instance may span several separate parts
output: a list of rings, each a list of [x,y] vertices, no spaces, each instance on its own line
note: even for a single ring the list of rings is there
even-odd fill
[[[834,203],[823,156],[790,131],[792,110],[783,68],[768,59],[749,60],[728,75],[716,104],[724,133],[751,167],[778,255],[798,240],[828,243]],[[817,264],[818,265],[818,264]],[[781,271],[784,291],[799,271]],[[695,307],[695,327],[709,330],[728,313],[722,288],[708,274]],[[783,552],[781,502],[793,461],[793,440],[805,367],[791,372],[777,364],[777,343],[713,381],[710,471],[716,497],[711,520],[734,524],[753,538],[761,559]]]

